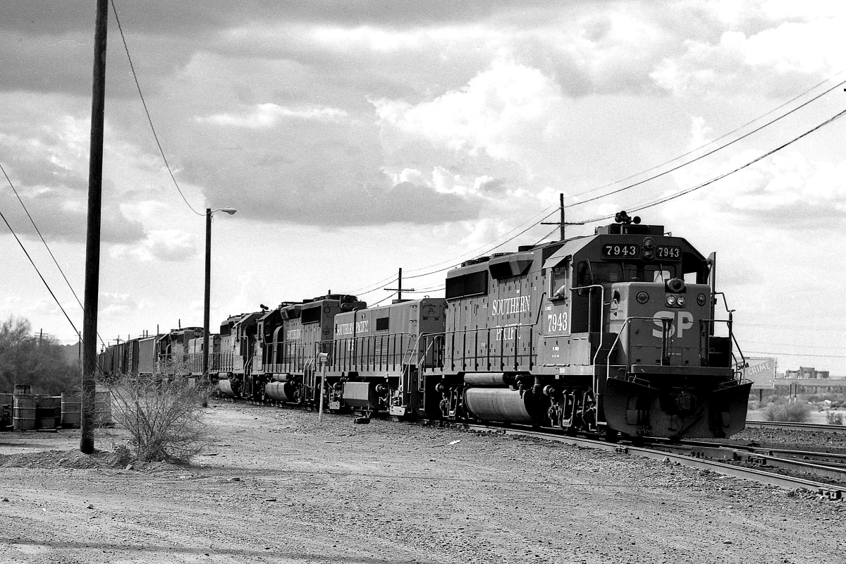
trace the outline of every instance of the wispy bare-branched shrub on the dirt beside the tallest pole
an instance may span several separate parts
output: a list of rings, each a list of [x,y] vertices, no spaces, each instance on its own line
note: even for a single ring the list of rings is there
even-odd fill
[[[206,389],[173,368],[167,375],[115,375],[100,382],[112,392],[113,419],[129,431],[136,460],[188,463],[211,442],[203,420]]]

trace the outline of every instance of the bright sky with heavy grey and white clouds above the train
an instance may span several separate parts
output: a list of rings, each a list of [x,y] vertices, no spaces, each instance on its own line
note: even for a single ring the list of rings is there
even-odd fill
[[[105,340],[202,325],[206,207],[238,209],[214,217],[212,326],[330,289],[375,303],[398,267],[425,275],[404,281],[415,295],[438,296],[442,269],[547,236],[531,226],[559,193],[569,221],[589,222],[568,233],[593,233],[846,109],[846,8],[827,1],[114,5],[184,199],[110,14]],[[80,300],[94,13],[93,0],[0,6],[0,164]],[[840,119],[638,212],[717,251],[744,351],[776,354],[779,370],[846,375],[844,136]],[[0,179],[0,211],[81,328]],[[0,227],[0,316],[73,342]]]

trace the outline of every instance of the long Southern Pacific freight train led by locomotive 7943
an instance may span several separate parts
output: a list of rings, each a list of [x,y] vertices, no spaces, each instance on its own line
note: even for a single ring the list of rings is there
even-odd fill
[[[750,382],[713,257],[621,212],[588,237],[448,272],[445,298],[367,308],[333,294],[235,315],[211,335],[220,393],[405,418],[722,437]],[[725,300],[722,300],[722,304]],[[104,371],[201,376],[202,329],[107,348]],[[171,369],[173,370],[173,369]]]

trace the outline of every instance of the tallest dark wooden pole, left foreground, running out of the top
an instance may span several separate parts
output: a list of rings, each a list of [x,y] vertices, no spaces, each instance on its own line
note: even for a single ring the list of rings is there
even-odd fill
[[[82,321],[80,451],[94,453],[97,365],[97,293],[100,291],[100,222],[103,180],[103,123],[106,113],[108,0],[97,0],[94,75],[91,82],[91,156],[88,163],[88,227],[85,237],[85,307]]]

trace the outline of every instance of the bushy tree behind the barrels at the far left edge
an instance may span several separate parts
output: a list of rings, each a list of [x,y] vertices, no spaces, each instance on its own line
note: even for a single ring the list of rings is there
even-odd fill
[[[79,385],[79,370],[68,364],[53,337],[33,337],[29,320],[10,315],[0,321],[0,392],[15,384],[41,386],[58,395]]]

